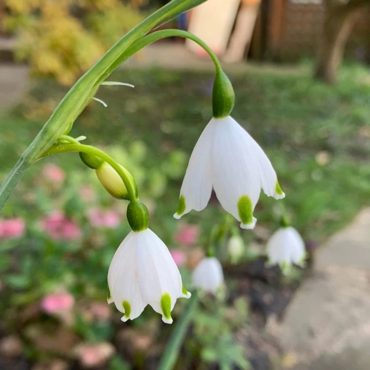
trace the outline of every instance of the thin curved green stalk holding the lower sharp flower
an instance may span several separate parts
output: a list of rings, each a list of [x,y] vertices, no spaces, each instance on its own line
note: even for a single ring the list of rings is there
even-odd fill
[[[119,177],[122,179],[123,183],[126,186],[130,200],[137,199],[136,191],[135,191],[136,189],[134,188],[133,184],[127,177],[126,173],[122,170],[121,165],[118,164],[111,156],[109,156],[106,152],[104,152],[101,149],[95,148],[91,145],[80,144],[78,142],[73,143],[73,144],[60,144],[60,145],[53,146],[49,148],[48,150],[46,150],[46,152],[42,155],[42,157],[46,157],[52,154],[67,153],[67,152],[72,152],[72,151],[92,154],[92,155],[96,155],[99,158],[104,159],[108,164],[111,165],[111,167],[113,167],[115,172],[117,172]]]

